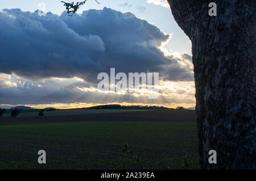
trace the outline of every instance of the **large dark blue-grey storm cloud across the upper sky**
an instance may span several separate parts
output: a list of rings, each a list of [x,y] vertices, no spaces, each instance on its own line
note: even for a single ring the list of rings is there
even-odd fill
[[[30,80],[97,74],[159,72],[172,81],[192,81],[193,73],[158,48],[169,39],[158,27],[112,9],[88,10],[69,18],[39,16],[19,9],[0,12],[0,72]],[[187,58],[185,55],[184,58]]]

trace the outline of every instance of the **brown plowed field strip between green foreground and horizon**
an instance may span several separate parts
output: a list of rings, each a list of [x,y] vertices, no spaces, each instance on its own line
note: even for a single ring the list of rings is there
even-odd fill
[[[20,113],[16,118],[0,117],[0,123],[67,123],[67,122],[174,122],[196,123],[193,110],[81,110]]]

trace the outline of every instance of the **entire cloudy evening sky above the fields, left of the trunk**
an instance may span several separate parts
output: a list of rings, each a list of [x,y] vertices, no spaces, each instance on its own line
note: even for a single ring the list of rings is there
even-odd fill
[[[191,42],[167,1],[88,0],[72,18],[60,1],[0,2],[0,107],[195,106]],[[98,90],[110,68],[158,72],[158,99]]]

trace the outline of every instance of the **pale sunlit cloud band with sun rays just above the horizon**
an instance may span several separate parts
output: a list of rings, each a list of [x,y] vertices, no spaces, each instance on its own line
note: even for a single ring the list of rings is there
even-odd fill
[[[36,104],[195,104],[193,82],[160,82],[158,99],[148,99],[144,92],[118,94],[99,91],[93,83],[80,78],[54,78],[44,81],[29,81],[16,75],[0,74],[0,103],[9,105]],[[10,86],[11,85],[11,86]],[[188,107],[189,107],[188,106]],[[81,106],[82,107],[82,106]]]

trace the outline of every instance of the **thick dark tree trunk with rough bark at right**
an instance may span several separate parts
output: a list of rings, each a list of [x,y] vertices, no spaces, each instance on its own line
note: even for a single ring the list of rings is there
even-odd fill
[[[168,2],[192,41],[201,167],[256,169],[256,1]],[[210,2],[217,16],[209,16]]]

